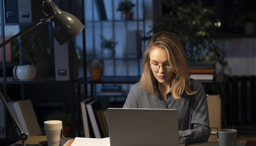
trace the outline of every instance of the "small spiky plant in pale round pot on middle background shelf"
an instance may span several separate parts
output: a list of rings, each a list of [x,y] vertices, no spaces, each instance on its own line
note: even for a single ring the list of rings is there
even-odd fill
[[[114,38],[106,39],[103,36],[101,37],[101,48],[102,48],[102,57],[103,58],[112,58],[115,55],[115,46],[117,42]]]

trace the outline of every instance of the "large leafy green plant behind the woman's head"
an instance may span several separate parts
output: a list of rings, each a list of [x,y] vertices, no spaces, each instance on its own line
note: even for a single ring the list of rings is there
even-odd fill
[[[223,75],[227,67],[225,52],[212,39],[219,28],[215,10],[217,7],[204,7],[200,0],[187,5],[182,5],[180,1],[164,2],[170,11],[154,22],[149,33],[175,33],[183,44],[189,61],[216,61],[216,71]]]

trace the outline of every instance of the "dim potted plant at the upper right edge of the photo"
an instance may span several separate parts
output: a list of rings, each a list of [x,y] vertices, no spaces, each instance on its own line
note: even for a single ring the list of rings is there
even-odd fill
[[[245,34],[255,34],[256,13],[245,13],[241,16],[241,21],[244,23]]]

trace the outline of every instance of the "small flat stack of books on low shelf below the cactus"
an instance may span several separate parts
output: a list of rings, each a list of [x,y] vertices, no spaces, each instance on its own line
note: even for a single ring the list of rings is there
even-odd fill
[[[101,92],[99,92],[101,96],[118,96],[123,95],[122,86],[121,85],[102,85]]]

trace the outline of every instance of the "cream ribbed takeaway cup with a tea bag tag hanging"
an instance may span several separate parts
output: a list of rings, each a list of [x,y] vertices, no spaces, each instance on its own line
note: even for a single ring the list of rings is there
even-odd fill
[[[44,130],[48,146],[59,146],[62,121],[52,120],[44,122]]]

